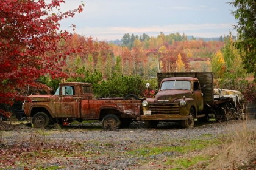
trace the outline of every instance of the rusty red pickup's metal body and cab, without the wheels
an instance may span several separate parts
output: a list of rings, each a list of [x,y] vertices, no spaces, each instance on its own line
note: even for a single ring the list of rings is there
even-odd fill
[[[46,112],[52,118],[101,120],[107,114],[123,118],[140,117],[141,100],[104,98],[93,100],[90,83],[60,83],[55,95],[32,95],[23,104],[27,116]]]

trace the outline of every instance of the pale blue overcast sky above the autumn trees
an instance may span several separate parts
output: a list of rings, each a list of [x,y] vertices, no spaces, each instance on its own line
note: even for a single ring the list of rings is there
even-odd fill
[[[230,14],[232,0],[84,0],[84,11],[60,22],[60,29],[99,41],[121,39],[125,33],[157,36],[179,32],[202,38],[236,36]],[[80,0],[66,0],[60,10],[76,9]]]

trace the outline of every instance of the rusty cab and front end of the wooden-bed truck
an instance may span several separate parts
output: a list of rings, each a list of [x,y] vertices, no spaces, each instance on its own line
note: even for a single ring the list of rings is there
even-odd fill
[[[197,78],[171,77],[163,79],[162,83],[169,81],[188,81],[190,83],[185,84],[190,84],[190,87],[187,85],[182,87],[180,84],[180,87],[173,89],[159,89],[154,100],[146,99],[148,107],[143,107],[144,115],[141,116],[141,120],[186,120],[191,107],[194,107],[196,112],[203,110],[204,100]],[[194,90],[194,84],[198,86],[196,90]],[[186,106],[180,106],[180,101],[185,101]]]

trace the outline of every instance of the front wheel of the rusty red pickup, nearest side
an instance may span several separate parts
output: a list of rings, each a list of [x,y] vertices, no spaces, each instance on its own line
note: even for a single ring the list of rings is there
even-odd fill
[[[44,112],[38,112],[32,118],[32,123],[35,128],[44,128],[49,125],[49,116]]]

